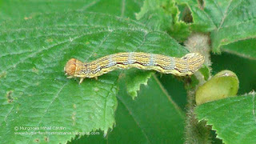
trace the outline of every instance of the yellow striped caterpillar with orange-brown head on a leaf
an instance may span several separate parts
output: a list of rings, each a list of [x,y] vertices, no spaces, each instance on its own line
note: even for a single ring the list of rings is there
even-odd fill
[[[129,69],[132,67],[142,70],[156,70],[163,74],[186,76],[194,74],[203,64],[204,57],[199,53],[189,53],[182,58],[169,57],[162,54],[148,54],[142,52],[123,52],[110,54],[98,58],[93,62],[81,62],[71,58],[66,62],[64,71],[67,78],[98,78],[116,69]]]

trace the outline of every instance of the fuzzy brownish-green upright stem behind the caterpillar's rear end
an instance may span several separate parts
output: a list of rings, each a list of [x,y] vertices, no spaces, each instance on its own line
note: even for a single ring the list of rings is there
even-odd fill
[[[185,42],[190,52],[199,52],[206,61],[205,65],[210,69],[210,38],[206,34],[191,34],[190,38]],[[209,70],[210,72],[210,70]],[[210,74],[209,74],[210,75]],[[209,77],[210,78],[210,77]],[[204,75],[196,72],[194,76],[186,79],[185,87],[187,90],[187,106],[186,106],[186,143],[211,143],[211,127],[206,126],[206,121],[198,122],[194,109],[196,107],[195,92],[198,86],[206,82]]]

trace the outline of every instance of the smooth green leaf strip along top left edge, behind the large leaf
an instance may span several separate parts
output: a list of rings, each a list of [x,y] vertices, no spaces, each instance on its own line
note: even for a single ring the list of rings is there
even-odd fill
[[[76,1],[34,1],[4,0],[0,1],[0,22],[9,19],[30,19],[36,14],[56,13],[77,10],[98,12],[135,19],[135,12],[142,6],[142,0],[76,0]]]

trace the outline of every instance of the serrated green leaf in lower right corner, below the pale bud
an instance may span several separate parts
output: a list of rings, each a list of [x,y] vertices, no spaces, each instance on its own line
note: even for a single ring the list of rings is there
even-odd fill
[[[207,102],[196,108],[199,120],[205,119],[225,143],[255,143],[255,93]]]

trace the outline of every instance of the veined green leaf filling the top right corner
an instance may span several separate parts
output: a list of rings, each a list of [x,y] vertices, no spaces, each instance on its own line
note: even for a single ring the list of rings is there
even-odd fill
[[[182,2],[188,4],[192,12],[192,29],[211,32],[214,52],[220,52],[222,48],[231,53],[246,55],[246,57],[252,57],[250,51],[255,53],[254,47],[247,45],[245,47],[240,41],[256,37],[256,1],[205,0],[203,5],[193,0],[182,0]],[[233,42],[236,43],[232,44],[234,48],[226,46]]]

